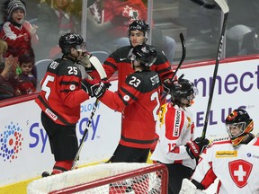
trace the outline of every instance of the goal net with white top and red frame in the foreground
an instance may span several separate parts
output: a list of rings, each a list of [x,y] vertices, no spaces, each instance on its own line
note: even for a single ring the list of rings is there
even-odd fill
[[[102,163],[31,181],[28,194],[166,194],[168,171],[161,163]]]

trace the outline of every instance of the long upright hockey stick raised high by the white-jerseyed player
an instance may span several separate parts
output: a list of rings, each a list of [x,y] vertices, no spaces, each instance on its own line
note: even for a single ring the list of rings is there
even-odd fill
[[[226,3],[225,0],[215,0],[215,2],[217,4],[219,4],[219,7],[221,8],[222,12],[224,13],[224,18],[223,18],[222,30],[221,30],[221,34],[220,34],[219,47],[218,47],[218,52],[217,52],[217,57],[216,57],[216,64],[215,64],[214,73],[213,73],[213,77],[212,77],[210,96],[209,96],[207,111],[206,111],[206,115],[205,115],[205,121],[204,121],[203,130],[202,130],[202,135],[201,135],[201,137],[203,137],[203,138],[205,138],[205,136],[206,136],[206,131],[207,131],[207,127],[208,127],[208,121],[209,121],[209,116],[210,116],[210,107],[211,107],[212,97],[213,97],[213,93],[214,93],[216,77],[218,74],[219,59],[220,59],[220,55],[221,55],[221,51],[222,51],[222,47],[223,47],[223,43],[224,43],[224,38],[225,38],[224,35],[225,35],[225,31],[226,31],[226,26],[227,26],[227,21],[228,21],[228,12],[229,12],[228,4]]]

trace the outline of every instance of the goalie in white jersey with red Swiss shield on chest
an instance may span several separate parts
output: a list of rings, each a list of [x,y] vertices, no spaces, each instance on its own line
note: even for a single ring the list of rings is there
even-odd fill
[[[187,185],[183,184],[182,194],[201,193],[216,179],[219,194],[259,193],[259,139],[251,133],[253,119],[246,110],[233,110],[226,119],[226,128],[229,137],[214,140],[201,154],[192,182],[184,180]]]

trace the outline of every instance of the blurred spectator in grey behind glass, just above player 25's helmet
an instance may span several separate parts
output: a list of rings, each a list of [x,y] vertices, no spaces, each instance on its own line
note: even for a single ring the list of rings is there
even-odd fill
[[[78,22],[72,11],[72,0],[45,0],[40,3],[37,19],[40,47],[36,50],[37,59],[62,56],[56,44],[58,38],[65,33],[79,31]]]

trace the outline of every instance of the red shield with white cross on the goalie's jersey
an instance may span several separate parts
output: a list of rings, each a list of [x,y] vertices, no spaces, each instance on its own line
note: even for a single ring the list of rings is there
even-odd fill
[[[244,160],[237,160],[228,163],[229,173],[238,188],[243,188],[247,184],[247,179],[252,171],[253,164]]]

